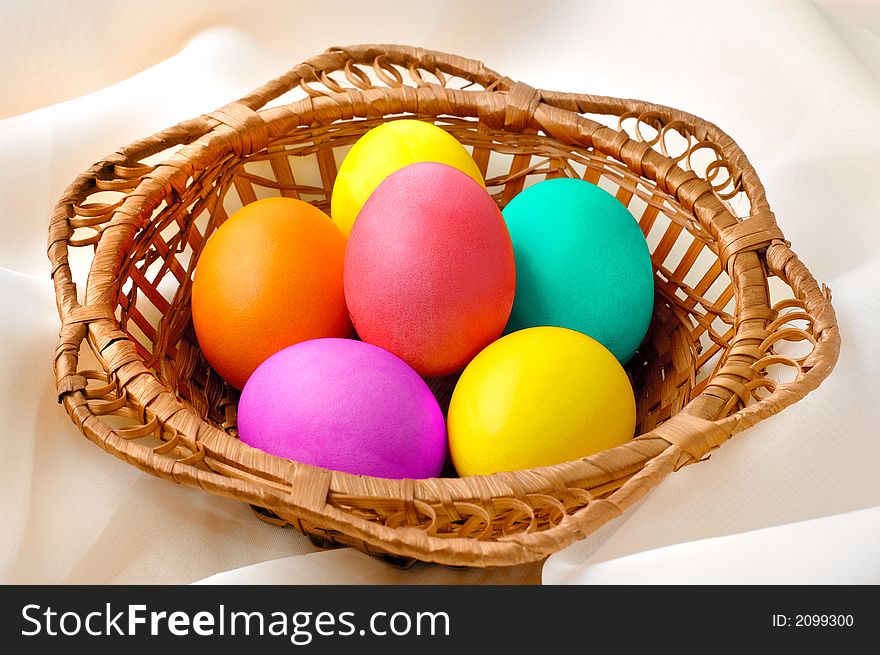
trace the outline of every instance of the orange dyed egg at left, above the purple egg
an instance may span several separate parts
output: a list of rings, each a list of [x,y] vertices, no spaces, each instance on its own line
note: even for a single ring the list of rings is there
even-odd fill
[[[230,216],[193,279],[193,327],[211,366],[241,389],[282,348],[351,336],[344,257],[342,232],[307,202],[266,198]]]

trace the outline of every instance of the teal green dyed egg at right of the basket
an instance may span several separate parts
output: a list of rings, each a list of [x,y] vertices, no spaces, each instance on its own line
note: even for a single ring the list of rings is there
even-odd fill
[[[651,322],[654,272],[627,208],[594,184],[555,178],[523,190],[502,213],[516,260],[506,331],[565,327],[629,361]]]

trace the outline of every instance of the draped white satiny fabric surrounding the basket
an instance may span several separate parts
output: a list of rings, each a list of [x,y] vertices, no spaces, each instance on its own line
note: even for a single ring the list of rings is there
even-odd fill
[[[877,511],[772,528],[880,505],[878,39],[880,7],[860,2],[0,4],[0,582],[185,583],[247,565],[219,580],[880,582],[865,557]],[[834,292],[837,369],[543,570],[400,571],[316,553],[241,503],[92,446],[53,400],[45,241],[64,187],[123,144],[363,42],[456,52],[533,86],[644,98],[720,125]]]

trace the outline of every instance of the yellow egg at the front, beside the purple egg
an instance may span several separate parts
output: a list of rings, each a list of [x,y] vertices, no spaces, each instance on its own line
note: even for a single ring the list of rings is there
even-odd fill
[[[632,438],[636,403],[623,367],[580,332],[534,327],[477,355],[447,418],[459,475],[560,464]]]

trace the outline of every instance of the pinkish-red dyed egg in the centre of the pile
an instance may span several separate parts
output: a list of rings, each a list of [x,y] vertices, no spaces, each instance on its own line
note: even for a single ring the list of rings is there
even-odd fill
[[[461,370],[501,335],[515,287],[501,212],[445,164],[410,164],[382,182],[345,252],[358,335],[426,377]]]

